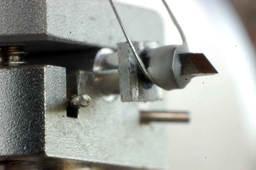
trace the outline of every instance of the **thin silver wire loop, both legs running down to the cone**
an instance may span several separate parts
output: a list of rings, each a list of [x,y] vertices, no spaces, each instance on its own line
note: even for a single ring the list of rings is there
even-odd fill
[[[146,69],[146,67],[145,67],[145,65],[144,65],[144,63],[143,63],[143,61],[141,60],[140,56],[139,56],[138,53],[136,52],[135,48],[133,47],[132,41],[130,40],[130,38],[129,38],[129,36],[128,36],[128,34],[127,34],[125,28],[124,28],[124,25],[123,25],[123,23],[122,23],[122,20],[121,20],[120,17],[119,17],[119,14],[118,14],[118,12],[117,12],[117,10],[116,10],[116,8],[115,8],[115,5],[114,5],[113,1],[112,1],[112,0],[109,0],[109,2],[110,2],[111,6],[112,6],[112,8],[113,8],[113,10],[114,10],[115,16],[116,16],[116,18],[118,19],[118,22],[119,22],[119,24],[120,24],[120,26],[121,26],[121,29],[122,29],[122,31],[123,31],[123,33],[124,33],[124,36],[125,36],[126,40],[127,40],[127,43],[128,43],[128,45],[129,45],[129,47],[131,48],[132,53],[133,53],[133,55],[135,56],[135,59],[136,59],[138,65],[139,65],[139,67],[140,67],[142,73],[148,78],[148,80],[150,80],[152,83],[156,84],[156,82],[154,81],[154,79],[148,74],[147,69]],[[165,2],[165,0],[162,0],[162,2],[163,2],[163,4],[164,4],[165,8],[167,9],[167,11],[168,11],[168,13],[169,13],[169,15],[170,15],[170,18],[172,19],[174,25],[175,25],[176,28],[178,29],[179,34],[180,34],[180,36],[181,36],[181,38],[182,38],[183,44],[187,44],[185,34],[184,34],[182,28],[180,27],[178,21],[176,20],[175,16],[173,15],[172,11],[170,10],[170,8],[169,8],[169,6],[167,5],[167,3]]]

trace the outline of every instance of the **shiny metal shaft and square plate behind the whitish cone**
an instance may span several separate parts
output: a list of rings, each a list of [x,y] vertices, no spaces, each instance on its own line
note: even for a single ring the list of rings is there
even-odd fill
[[[156,42],[134,42],[137,51],[145,47],[158,47]],[[148,62],[148,58],[142,59]],[[136,60],[127,43],[118,43],[118,52],[109,48],[101,49],[94,60],[94,81],[103,97],[113,101],[121,94],[122,101],[152,101],[162,99],[162,90],[149,81]]]

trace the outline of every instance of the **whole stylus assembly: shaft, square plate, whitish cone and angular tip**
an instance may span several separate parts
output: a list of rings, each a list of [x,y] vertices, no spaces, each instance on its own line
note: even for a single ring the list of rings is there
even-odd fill
[[[118,52],[103,48],[97,53],[94,81],[104,96],[121,94],[122,101],[153,101],[162,99],[159,87],[165,90],[184,88],[198,75],[218,73],[202,53],[188,53],[186,45],[159,47],[157,42],[133,42],[133,48],[156,81],[143,74],[128,43],[118,43]],[[168,61],[168,62],[167,62]],[[157,87],[157,86],[158,87]]]

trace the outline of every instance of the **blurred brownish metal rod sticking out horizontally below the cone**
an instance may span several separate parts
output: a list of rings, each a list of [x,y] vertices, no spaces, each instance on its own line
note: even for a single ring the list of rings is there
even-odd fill
[[[189,115],[187,112],[160,112],[160,111],[141,111],[141,122],[188,122]]]

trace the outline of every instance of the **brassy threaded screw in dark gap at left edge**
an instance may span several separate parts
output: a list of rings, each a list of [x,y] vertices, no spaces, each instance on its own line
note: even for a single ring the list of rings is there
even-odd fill
[[[26,52],[22,46],[2,46],[0,47],[0,53],[0,64],[2,66],[25,64],[23,57]]]

